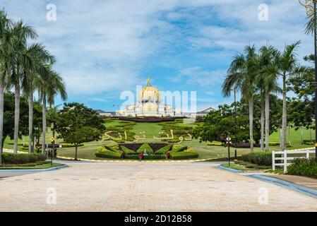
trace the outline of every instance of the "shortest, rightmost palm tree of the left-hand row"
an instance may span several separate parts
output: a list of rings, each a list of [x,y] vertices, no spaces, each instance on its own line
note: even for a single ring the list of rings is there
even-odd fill
[[[46,131],[47,131],[47,102],[50,106],[54,105],[54,98],[60,95],[62,100],[67,99],[66,86],[63,78],[58,73],[49,68],[49,73],[39,79],[40,99],[42,100],[42,153],[45,149]]]

